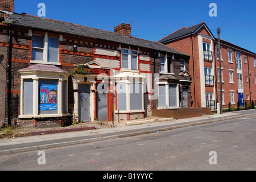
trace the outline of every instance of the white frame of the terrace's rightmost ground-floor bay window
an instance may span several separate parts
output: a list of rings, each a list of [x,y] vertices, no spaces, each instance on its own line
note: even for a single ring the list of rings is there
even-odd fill
[[[157,109],[180,109],[179,106],[179,85],[178,84],[169,84],[167,81],[159,81],[157,82],[158,85],[158,93],[159,93],[159,85],[165,85],[165,107],[157,107]],[[169,85],[176,85],[176,106],[169,106]]]

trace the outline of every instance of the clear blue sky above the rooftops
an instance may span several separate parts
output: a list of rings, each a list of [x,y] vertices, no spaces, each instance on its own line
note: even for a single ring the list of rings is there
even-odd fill
[[[256,53],[255,0],[130,0],[67,1],[14,0],[15,13],[37,15],[38,3],[45,3],[46,18],[113,31],[118,24],[131,23],[131,35],[157,41],[182,27],[205,22],[217,37]],[[216,3],[217,16],[209,16]]]

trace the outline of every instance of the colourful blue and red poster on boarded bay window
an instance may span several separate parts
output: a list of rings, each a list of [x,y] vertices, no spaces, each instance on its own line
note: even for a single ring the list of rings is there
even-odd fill
[[[40,104],[39,110],[57,109],[57,85],[40,84]]]

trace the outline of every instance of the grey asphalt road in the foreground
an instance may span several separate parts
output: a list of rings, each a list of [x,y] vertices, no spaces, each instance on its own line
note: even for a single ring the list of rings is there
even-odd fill
[[[254,171],[256,118],[243,117],[43,152],[45,160],[38,151],[0,156],[0,170]]]

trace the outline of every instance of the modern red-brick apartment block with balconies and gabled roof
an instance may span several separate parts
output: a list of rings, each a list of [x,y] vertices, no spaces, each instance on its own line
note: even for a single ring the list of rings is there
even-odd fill
[[[256,100],[256,53],[220,40],[219,68],[218,39],[214,38],[205,22],[189,28],[182,27],[158,42],[191,56],[191,106],[215,109],[221,93],[220,81],[224,108],[229,107],[229,103],[241,106],[244,101]]]

